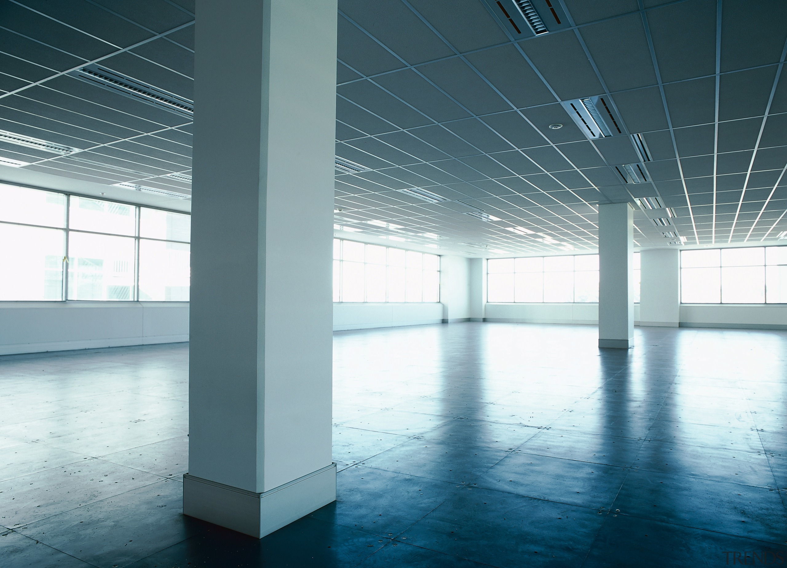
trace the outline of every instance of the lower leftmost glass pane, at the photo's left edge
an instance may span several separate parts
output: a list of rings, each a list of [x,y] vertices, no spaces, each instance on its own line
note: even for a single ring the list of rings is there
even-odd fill
[[[0,223],[0,243],[0,301],[63,299],[65,231]]]

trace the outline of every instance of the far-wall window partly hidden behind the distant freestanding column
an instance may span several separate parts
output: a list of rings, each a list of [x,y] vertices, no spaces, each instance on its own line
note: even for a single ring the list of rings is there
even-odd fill
[[[634,253],[634,301],[639,301],[639,253]],[[598,255],[528,256],[487,261],[489,302],[598,301]]]

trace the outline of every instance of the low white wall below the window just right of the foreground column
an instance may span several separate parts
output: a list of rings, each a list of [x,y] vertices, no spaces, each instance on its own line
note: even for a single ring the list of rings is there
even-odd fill
[[[442,323],[443,304],[334,304],[334,331]]]

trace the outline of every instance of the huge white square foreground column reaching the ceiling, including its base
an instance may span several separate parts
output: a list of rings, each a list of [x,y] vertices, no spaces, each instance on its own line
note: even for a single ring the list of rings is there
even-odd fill
[[[336,0],[197,0],[183,512],[264,537],[336,498]]]

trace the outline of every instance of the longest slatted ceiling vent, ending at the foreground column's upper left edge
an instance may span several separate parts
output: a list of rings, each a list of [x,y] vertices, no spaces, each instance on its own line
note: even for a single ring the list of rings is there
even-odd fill
[[[126,97],[134,98],[137,101],[145,102],[148,105],[156,106],[159,109],[175,112],[187,118],[194,117],[194,103],[187,98],[168,93],[153,87],[153,85],[142,83],[142,81],[137,79],[131,79],[131,77],[121,75],[100,65],[87,65],[69,73],[69,75],[98,87],[112,90],[115,93],[123,94]]]

